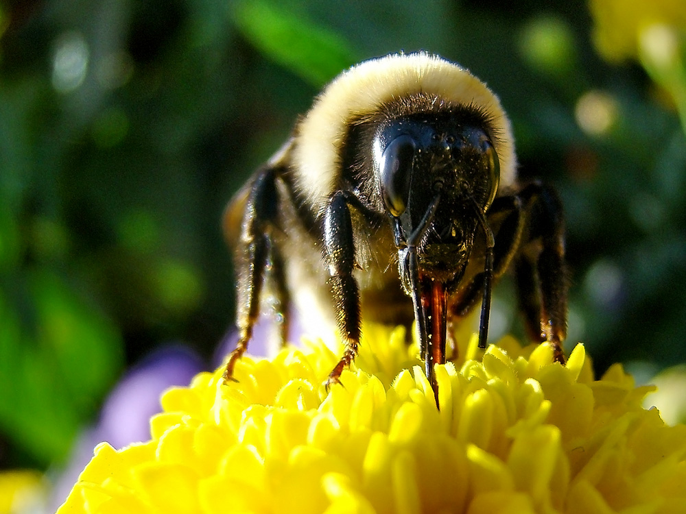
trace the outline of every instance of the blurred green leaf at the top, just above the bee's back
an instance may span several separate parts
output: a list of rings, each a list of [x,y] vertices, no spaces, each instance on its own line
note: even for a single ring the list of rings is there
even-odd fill
[[[241,33],[266,56],[314,86],[329,82],[359,60],[344,38],[282,5],[240,1],[233,10]]]

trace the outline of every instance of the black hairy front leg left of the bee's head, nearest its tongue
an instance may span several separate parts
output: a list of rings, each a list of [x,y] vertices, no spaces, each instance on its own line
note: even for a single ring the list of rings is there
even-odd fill
[[[345,344],[342,358],[329,374],[328,388],[331,384],[339,383],[343,370],[357,355],[361,323],[359,290],[353,277],[353,223],[348,201],[341,191],[331,197],[324,213],[324,256],[331,277],[329,284],[335,303],[336,323]]]

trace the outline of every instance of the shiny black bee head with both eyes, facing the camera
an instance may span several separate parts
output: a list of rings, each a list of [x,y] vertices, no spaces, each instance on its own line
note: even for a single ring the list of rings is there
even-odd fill
[[[469,258],[475,208],[486,212],[499,186],[491,137],[487,120],[469,109],[411,114],[379,125],[372,143],[379,193],[406,238],[422,230],[424,268],[454,271]]]

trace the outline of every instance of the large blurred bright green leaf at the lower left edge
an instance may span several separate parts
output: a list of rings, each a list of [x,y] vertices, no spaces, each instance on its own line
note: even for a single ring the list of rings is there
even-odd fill
[[[0,327],[0,427],[38,461],[61,460],[121,369],[119,333],[45,270],[4,282]]]

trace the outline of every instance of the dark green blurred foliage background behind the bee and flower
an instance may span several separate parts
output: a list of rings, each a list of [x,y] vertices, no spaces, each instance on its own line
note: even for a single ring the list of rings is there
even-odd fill
[[[323,84],[400,50],[488,82],[558,187],[569,342],[686,361],[686,7],[643,3],[0,0],[0,469],[63,462],[155,347],[209,363],[226,201]],[[493,319],[521,333],[508,280]]]

